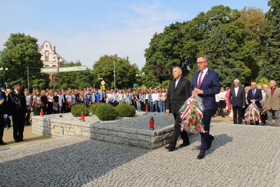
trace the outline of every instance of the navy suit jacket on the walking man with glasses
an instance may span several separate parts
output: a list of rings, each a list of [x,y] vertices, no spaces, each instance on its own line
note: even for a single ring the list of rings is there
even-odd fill
[[[192,82],[189,87],[189,92],[192,94],[194,88],[198,88],[198,75],[200,71],[195,72],[193,74]],[[205,110],[214,110],[216,109],[216,98],[215,95],[220,93],[220,79],[217,72],[209,70],[207,71],[206,75],[204,76],[201,84],[200,90],[203,91],[203,94],[198,94],[202,98],[202,103]]]

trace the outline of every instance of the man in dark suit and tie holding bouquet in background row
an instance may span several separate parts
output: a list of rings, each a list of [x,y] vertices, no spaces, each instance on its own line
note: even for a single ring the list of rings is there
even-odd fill
[[[249,92],[248,92],[247,101],[248,101],[249,105],[254,102],[257,105],[257,107],[260,108],[259,102],[263,99],[262,91],[256,88],[256,86],[257,86],[256,82],[252,82],[251,86],[252,86],[252,89],[249,90]],[[254,125],[254,121],[253,122],[250,121],[250,125]],[[259,121],[256,121],[255,125],[259,125]]]

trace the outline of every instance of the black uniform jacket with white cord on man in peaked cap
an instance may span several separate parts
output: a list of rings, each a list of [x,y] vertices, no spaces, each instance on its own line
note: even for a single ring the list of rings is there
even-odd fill
[[[18,104],[16,104],[20,101]],[[15,103],[16,102],[16,103]],[[8,116],[24,117],[27,113],[26,99],[22,91],[16,94],[15,90],[8,94]]]

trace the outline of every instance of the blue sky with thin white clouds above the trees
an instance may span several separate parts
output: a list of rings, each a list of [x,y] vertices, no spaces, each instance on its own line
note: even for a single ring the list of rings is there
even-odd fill
[[[235,1],[0,1],[0,50],[10,33],[30,34],[41,46],[49,41],[68,61],[92,68],[100,56],[128,56],[141,69],[144,50],[155,32],[176,21],[191,20],[215,5],[242,9],[265,0]]]

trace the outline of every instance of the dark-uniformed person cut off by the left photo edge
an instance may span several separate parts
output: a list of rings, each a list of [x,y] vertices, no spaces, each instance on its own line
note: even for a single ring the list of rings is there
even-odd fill
[[[0,84],[1,85],[1,84]],[[4,133],[4,118],[8,117],[7,110],[7,99],[5,92],[0,91],[0,145],[6,145],[3,141],[3,133]]]

